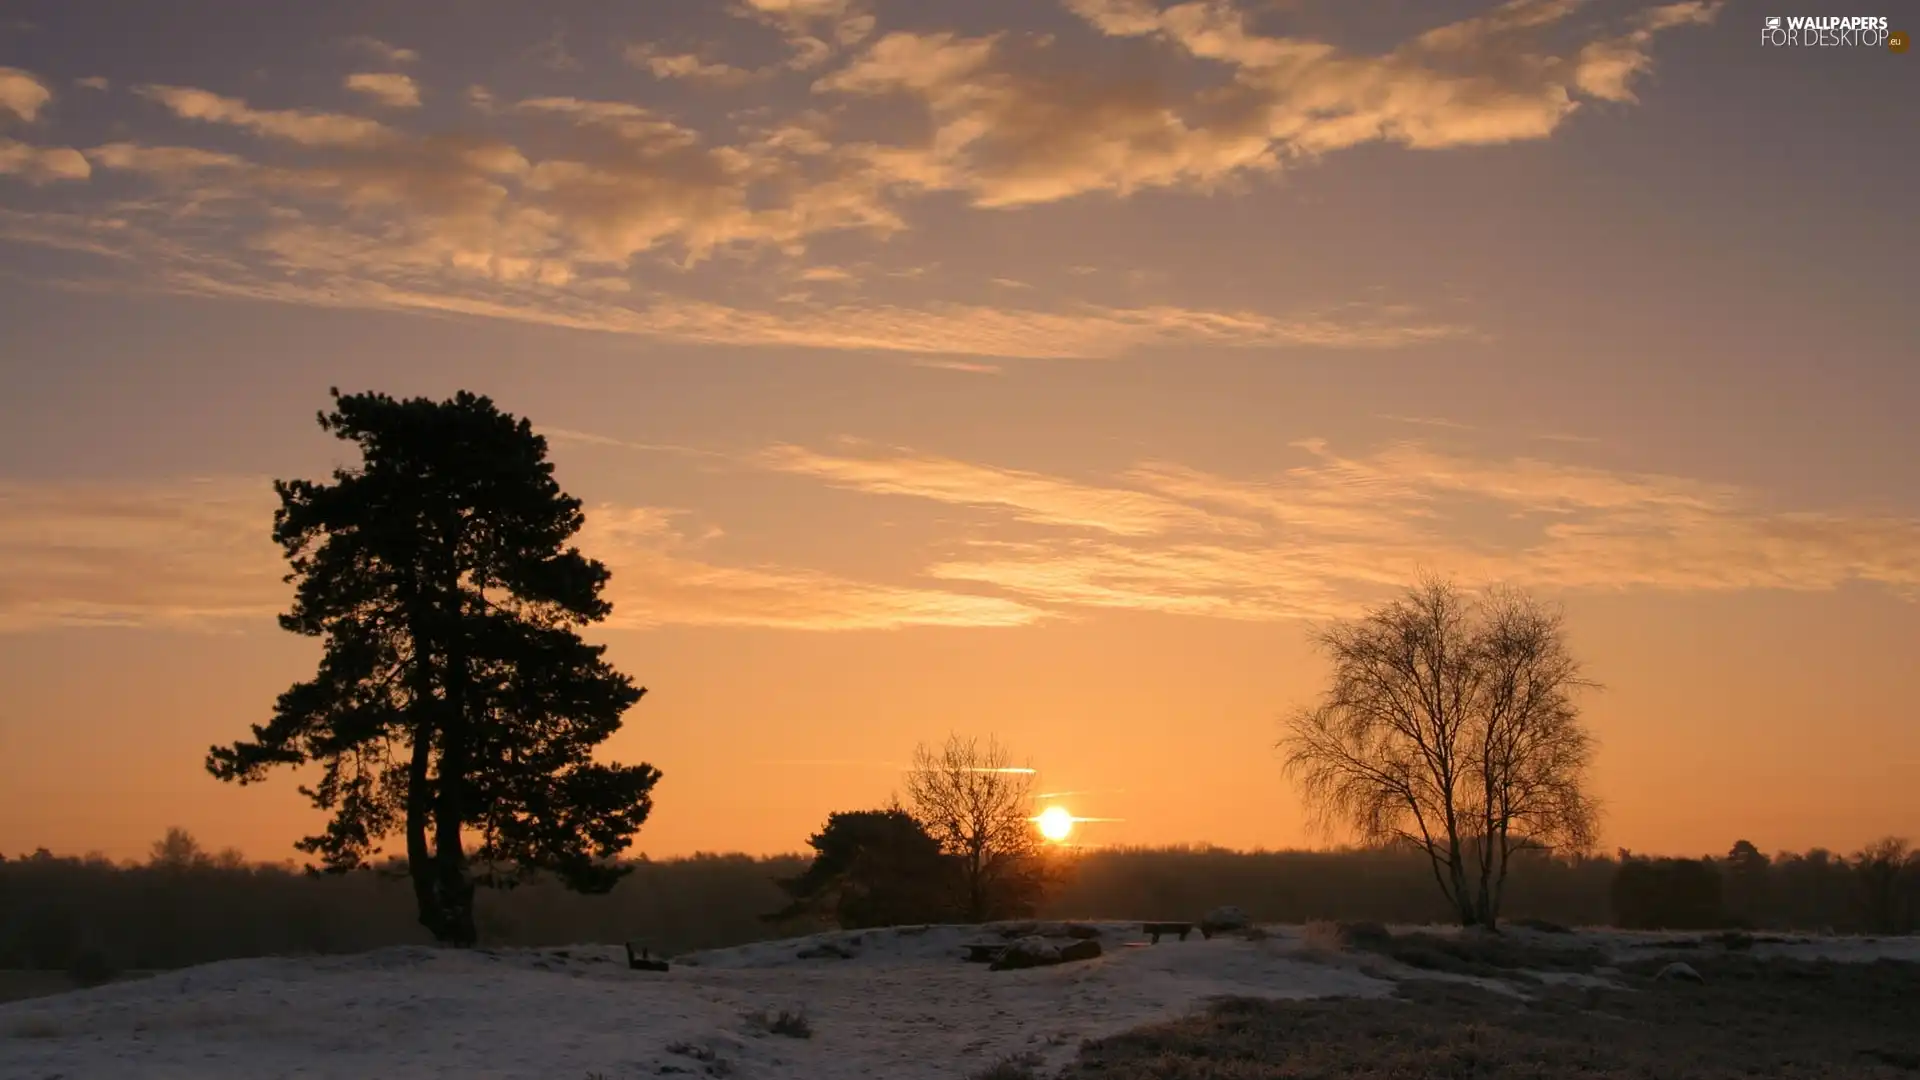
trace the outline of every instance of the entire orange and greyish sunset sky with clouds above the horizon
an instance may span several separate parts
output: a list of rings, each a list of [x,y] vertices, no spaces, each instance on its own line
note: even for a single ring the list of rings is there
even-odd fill
[[[1565,611],[1605,849],[1920,836],[1920,58],[1768,12],[13,0],[0,851],[321,826],[202,759],[319,657],[330,386],[547,436],[651,857],[948,732],[1342,842],[1275,742],[1423,571]]]

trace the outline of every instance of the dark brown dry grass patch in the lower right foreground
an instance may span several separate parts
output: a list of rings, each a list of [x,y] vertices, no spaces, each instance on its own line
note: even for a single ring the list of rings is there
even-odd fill
[[[1411,980],[1398,999],[1223,999],[1089,1042],[1062,1080],[1914,1080],[1920,965],[1701,957],[1705,986],[1530,988],[1523,1001]]]

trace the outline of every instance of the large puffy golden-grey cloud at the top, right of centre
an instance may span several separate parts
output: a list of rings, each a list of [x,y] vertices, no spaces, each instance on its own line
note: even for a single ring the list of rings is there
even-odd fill
[[[1540,44],[1574,0],[1511,0],[1428,31],[1382,56],[1267,37],[1223,0],[1068,0],[1106,37],[1154,38],[1227,83],[1181,88],[1129,73],[1041,60],[1004,35],[889,33],[820,79],[824,94],[918,98],[931,136],[868,148],[899,183],[964,190],[977,206],[1023,206],[1089,192],[1208,190],[1231,177],[1398,142],[1419,150],[1549,136],[1578,96],[1628,102],[1657,33],[1713,19],[1711,4],[1644,12],[1574,58]]]

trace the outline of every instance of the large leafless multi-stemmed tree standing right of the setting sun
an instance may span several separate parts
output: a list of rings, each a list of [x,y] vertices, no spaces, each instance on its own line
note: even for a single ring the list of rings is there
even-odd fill
[[[1463,926],[1496,924],[1517,853],[1592,847],[1594,740],[1572,696],[1594,684],[1559,611],[1427,578],[1315,638],[1332,686],[1281,746],[1319,824],[1425,851]]]

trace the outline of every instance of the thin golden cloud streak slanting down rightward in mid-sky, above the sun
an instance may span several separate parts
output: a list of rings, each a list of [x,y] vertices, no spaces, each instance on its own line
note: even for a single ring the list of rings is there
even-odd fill
[[[837,457],[801,446],[774,446],[760,454],[756,463],[778,473],[814,477],[837,488],[998,507],[1012,511],[1020,521],[1119,536],[1258,532],[1244,521],[1223,519],[1146,492],[1079,484],[1041,473],[972,465],[925,454]]]

